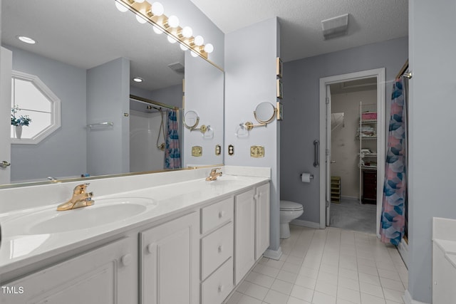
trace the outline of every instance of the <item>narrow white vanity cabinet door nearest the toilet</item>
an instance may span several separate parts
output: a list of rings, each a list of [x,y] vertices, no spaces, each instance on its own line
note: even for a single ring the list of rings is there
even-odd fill
[[[257,188],[255,219],[255,260],[269,247],[269,184]]]

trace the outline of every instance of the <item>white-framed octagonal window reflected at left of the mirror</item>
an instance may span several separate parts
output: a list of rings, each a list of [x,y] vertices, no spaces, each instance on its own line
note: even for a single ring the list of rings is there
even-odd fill
[[[11,75],[11,110],[31,119],[20,139],[11,125],[11,143],[38,144],[61,126],[61,101],[36,75],[16,70]]]

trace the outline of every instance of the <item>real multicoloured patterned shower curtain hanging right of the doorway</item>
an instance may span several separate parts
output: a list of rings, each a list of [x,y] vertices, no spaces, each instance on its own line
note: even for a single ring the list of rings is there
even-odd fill
[[[407,123],[404,80],[393,84],[380,223],[383,243],[398,245],[405,232],[407,199]]]

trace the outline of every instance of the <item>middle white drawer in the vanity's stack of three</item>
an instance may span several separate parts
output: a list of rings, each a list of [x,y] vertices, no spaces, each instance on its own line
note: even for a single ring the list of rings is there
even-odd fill
[[[233,222],[212,232],[201,240],[201,279],[204,280],[217,267],[233,256]]]

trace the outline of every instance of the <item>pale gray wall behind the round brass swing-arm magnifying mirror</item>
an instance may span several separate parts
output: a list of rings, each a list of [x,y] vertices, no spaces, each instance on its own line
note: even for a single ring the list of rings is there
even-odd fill
[[[271,244],[279,249],[279,122],[255,127],[249,137],[234,134],[241,122],[252,121],[263,101],[276,103],[276,57],[280,28],[276,18],[267,19],[225,36],[225,164],[271,167]],[[227,154],[234,145],[234,155]],[[264,158],[250,157],[250,146],[264,146]]]

